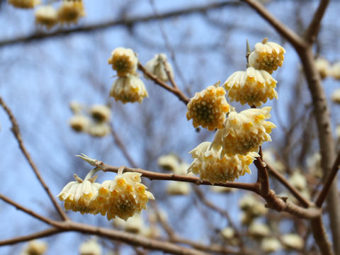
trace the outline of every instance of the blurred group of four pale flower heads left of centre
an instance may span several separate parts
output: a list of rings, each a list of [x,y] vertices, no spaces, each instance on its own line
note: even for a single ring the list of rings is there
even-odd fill
[[[111,109],[108,106],[95,104],[89,109],[77,102],[70,103],[74,115],[69,125],[76,132],[87,132],[94,137],[103,137],[111,132],[109,124]]]

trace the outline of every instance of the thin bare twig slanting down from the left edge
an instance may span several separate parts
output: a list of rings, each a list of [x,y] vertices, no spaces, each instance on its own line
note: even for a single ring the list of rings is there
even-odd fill
[[[23,155],[26,157],[28,164],[30,164],[30,167],[33,169],[35,176],[37,177],[38,181],[40,182],[40,184],[42,185],[42,187],[45,189],[47,195],[50,197],[50,200],[52,201],[53,205],[55,206],[55,209],[57,210],[57,212],[59,212],[60,216],[62,217],[63,220],[67,220],[68,217],[65,214],[65,212],[62,210],[62,208],[60,207],[59,203],[57,203],[57,200],[55,199],[55,197],[52,195],[50,188],[48,188],[48,186],[46,185],[45,181],[42,179],[42,176],[40,175],[40,172],[37,168],[37,166],[35,166],[33,159],[30,157],[30,154],[28,153],[25,145],[23,144],[23,139],[21,137],[21,132],[19,130],[19,125],[18,122],[16,121],[16,118],[14,117],[12,111],[10,108],[8,108],[8,106],[6,105],[6,103],[4,102],[4,100],[1,98],[0,96],[0,105],[4,108],[4,110],[6,111],[9,119],[11,120],[12,123],[12,132],[14,137],[16,137],[16,140],[18,141],[18,145],[21,149],[21,152],[23,152]]]

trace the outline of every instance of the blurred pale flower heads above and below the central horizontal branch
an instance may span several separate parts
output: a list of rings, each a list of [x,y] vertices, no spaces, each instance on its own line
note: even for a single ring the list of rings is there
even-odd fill
[[[164,171],[172,171],[174,174],[179,175],[188,175],[186,171],[186,169],[188,169],[188,164],[186,162],[182,162],[174,154],[167,154],[159,157],[158,164]],[[188,195],[190,192],[190,184],[186,182],[171,181],[166,185],[166,193],[169,195]]]

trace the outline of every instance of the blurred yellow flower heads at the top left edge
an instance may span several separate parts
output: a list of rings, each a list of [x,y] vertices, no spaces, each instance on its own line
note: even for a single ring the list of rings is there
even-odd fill
[[[62,3],[55,8],[51,4],[41,5],[40,0],[9,0],[9,4],[17,8],[34,8],[35,23],[51,29],[60,24],[77,23],[79,18],[85,16],[84,4],[81,0],[63,0]]]

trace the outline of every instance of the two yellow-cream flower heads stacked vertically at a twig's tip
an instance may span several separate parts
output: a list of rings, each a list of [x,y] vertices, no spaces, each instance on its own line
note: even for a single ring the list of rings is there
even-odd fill
[[[110,96],[123,103],[142,103],[148,94],[143,81],[137,77],[138,58],[135,52],[118,47],[111,53],[108,64],[111,64],[118,75],[111,86]]]

